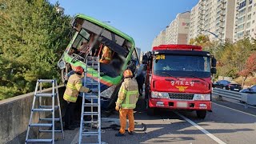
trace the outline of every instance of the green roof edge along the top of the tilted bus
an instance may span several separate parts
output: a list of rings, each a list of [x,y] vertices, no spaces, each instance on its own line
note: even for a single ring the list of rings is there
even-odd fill
[[[133,46],[135,46],[134,38],[131,38],[129,35],[123,33],[121,30],[118,30],[118,29],[114,28],[113,26],[106,24],[105,22],[101,22],[98,19],[92,18],[85,14],[77,14],[74,18],[83,18],[83,19],[86,19],[87,21],[94,22],[94,23],[98,24],[99,26],[102,26],[102,27],[106,28],[107,30],[114,32],[115,34],[120,35],[122,38],[125,38],[127,41],[131,42]]]

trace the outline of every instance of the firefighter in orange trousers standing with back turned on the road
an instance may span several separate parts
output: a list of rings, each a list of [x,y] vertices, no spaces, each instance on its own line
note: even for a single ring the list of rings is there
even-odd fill
[[[131,70],[125,70],[123,73],[124,82],[118,92],[118,100],[115,110],[119,110],[120,130],[115,136],[124,136],[126,132],[126,117],[129,119],[128,134],[133,135],[134,131],[134,109],[138,101],[138,83],[132,79]]]

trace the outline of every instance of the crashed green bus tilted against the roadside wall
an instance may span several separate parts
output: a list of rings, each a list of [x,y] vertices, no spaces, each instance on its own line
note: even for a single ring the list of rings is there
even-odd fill
[[[108,62],[100,61],[100,90],[102,100],[105,102],[102,108],[108,109],[114,106],[118,97],[123,71],[130,69],[134,73],[138,65],[134,39],[113,26],[84,14],[76,15],[71,26],[75,31],[74,36],[58,62],[62,70],[62,81],[67,81],[67,75],[71,71],[70,65],[82,66],[86,69],[85,50],[79,50],[84,44],[91,46],[88,51],[91,56],[100,59],[102,51],[107,47],[111,51],[109,54],[111,58]]]

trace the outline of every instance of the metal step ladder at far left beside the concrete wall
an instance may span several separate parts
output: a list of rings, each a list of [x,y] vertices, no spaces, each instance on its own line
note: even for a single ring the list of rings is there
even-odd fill
[[[42,92],[42,83],[51,83],[52,91],[50,93],[43,93]],[[38,90],[39,88],[39,90]],[[51,98],[51,105],[50,106],[43,106],[42,100],[46,100],[46,98]],[[57,99],[57,106],[55,106],[55,98]],[[38,106],[35,106],[36,101],[38,100]],[[44,104],[45,105],[45,104]],[[55,110],[58,110],[59,118],[55,118]],[[34,112],[38,112],[38,123],[32,122],[32,118],[36,118]],[[49,114],[51,118],[41,118],[42,113]],[[55,130],[55,122],[60,122],[61,130]],[[51,133],[50,139],[42,139],[39,138],[29,138],[30,135],[30,128],[31,127],[38,127],[38,134],[40,133]],[[47,130],[42,130],[42,128],[48,128]],[[26,141],[25,143],[29,142],[51,142],[54,143],[54,134],[55,133],[62,133],[62,138],[64,139],[64,131],[62,126],[62,113],[60,109],[60,102],[58,97],[58,84],[57,81],[54,79],[38,79],[35,90],[34,90],[34,100],[32,104],[31,114],[30,114],[30,122],[26,132]]]

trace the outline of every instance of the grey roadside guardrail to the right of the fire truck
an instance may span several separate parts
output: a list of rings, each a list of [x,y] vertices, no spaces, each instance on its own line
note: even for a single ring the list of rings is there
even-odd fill
[[[249,105],[256,105],[256,94],[248,94],[248,93],[239,93],[236,91],[231,90],[223,90],[214,88],[213,94],[215,96],[218,96],[220,100],[222,100],[222,97],[224,98],[231,98],[234,100],[238,100],[240,102],[245,102],[245,108],[248,108]]]

